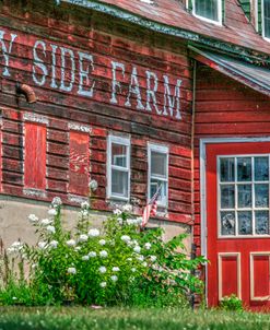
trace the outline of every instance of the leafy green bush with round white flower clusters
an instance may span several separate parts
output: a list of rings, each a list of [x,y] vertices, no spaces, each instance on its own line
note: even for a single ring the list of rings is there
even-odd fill
[[[11,259],[27,261],[28,279],[11,275],[0,288],[2,304],[163,306],[200,293],[202,282],[192,270],[204,260],[177,251],[184,249],[184,235],[165,243],[161,228],[140,231],[141,219],[131,216],[130,205],[94,228],[89,211],[83,202],[73,232],[62,227],[59,198],[52,200],[48,219],[28,216],[38,235],[36,246],[16,241],[7,250]]]

